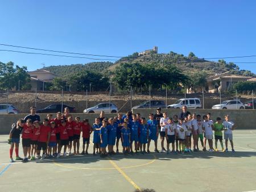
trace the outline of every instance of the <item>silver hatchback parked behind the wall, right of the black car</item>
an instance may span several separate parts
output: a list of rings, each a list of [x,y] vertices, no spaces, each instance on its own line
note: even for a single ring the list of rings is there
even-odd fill
[[[118,108],[116,105],[114,105],[114,103],[99,103],[96,106],[90,107],[90,108],[86,108],[83,112],[85,113],[100,113],[101,111],[105,111],[105,112],[110,112],[115,113],[118,111]]]

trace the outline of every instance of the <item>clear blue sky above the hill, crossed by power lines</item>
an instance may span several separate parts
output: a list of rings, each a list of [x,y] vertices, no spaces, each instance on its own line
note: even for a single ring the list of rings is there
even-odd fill
[[[0,2],[0,44],[109,56],[127,56],[154,46],[159,53],[192,51],[200,58],[256,55],[253,0]],[[3,45],[0,49],[56,54]],[[255,62],[236,64],[256,73],[256,57],[225,60]],[[13,61],[29,71],[42,64],[93,62],[6,51],[0,51],[0,61]]]

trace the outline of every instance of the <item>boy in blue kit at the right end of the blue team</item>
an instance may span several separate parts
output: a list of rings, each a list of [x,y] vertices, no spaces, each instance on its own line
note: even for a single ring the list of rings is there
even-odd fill
[[[147,121],[148,125],[148,142],[147,142],[147,153],[150,153],[149,147],[151,140],[155,141],[155,152],[159,153],[158,151],[158,121],[154,119],[154,114],[149,114],[149,120]]]

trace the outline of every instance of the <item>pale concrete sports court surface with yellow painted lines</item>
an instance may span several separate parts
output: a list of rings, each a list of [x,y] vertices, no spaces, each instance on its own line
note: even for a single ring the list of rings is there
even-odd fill
[[[234,131],[235,153],[133,156],[121,153],[107,158],[89,154],[12,164],[7,137],[0,135],[0,191],[256,190],[255,130]],[[19,153],[23,157],[21,147]],[[92,144],[89,153],[92,153]]]

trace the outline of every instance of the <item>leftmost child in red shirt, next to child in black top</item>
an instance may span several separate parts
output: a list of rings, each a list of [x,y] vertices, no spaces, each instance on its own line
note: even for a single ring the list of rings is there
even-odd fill
[[[32,120],[27,119],[27,122],[26,124],[24,124],[23,130],[22,130],[22,147],[23,147],[23,153],[24,153],[24,158],[22,162],[28,162],[27,152],[31,145],[31,137],[32,137]]]

